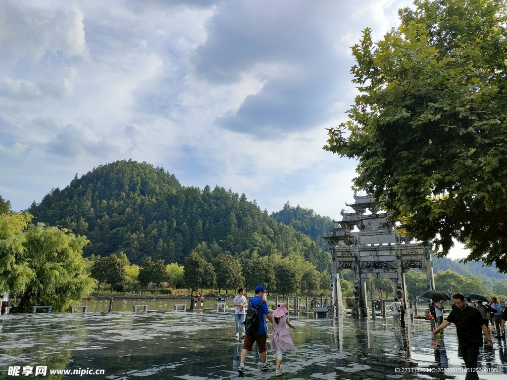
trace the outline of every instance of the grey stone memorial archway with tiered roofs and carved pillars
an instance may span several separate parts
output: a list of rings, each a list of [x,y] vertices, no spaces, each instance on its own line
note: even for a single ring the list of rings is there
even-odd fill
[[[380,202],[369,196],[357,196],[355,202],[346,204],[355,212],[342,210],[339,227],[331,229],[325,237],[333,258],[333,305],[337,313],[341,302],[340,272],[355,272],[354,307],[352,314],[367,317],[366,281],[371,278],[390,279],[398,298],[408,302],[405,273],[418,268],[426,273],[428,289],[434,289],[431,247],[411,243],[395,230],[388,220],[389,213],[379,210]],[[367,210],[369,212],[367,212]]]

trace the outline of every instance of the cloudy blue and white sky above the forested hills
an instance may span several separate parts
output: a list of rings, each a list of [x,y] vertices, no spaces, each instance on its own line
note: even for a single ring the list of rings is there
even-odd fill
[[[269,212],[289,201],[340,220],[355,162],[322,146],[356,95],[350,47],[404,7],[0,0],[0,195],[24,210],[132,159]]]

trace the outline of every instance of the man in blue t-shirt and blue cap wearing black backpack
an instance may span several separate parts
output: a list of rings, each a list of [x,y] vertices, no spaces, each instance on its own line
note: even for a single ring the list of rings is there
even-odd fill
[[[259,302],[264,299],[264,295],[266,293],[266,289],[264,286],[257,285],[255,288],[255,296],[250,299],[250,302],[253,307],[256,307]],[[262,365],[261,371],[265,371],[269,368],[269,364],[266,362],[266,338],[268,332],[268,326],[266,324],[266,317],[269,319],[271,323],[273,323],[273,317],[269,314],[268,304],[265,302],[259,308],[259,329],[252,334],[252,331],[245,331],[246,336],[245,340],[243,340],[243,350],[241,350],[241,364],[238,367],[239,373],[245,373],[245,359],[248,351],[251,351],[253,347],[253,342],[257,342],[257,347],[259,348],[259,355],[261,356]]]

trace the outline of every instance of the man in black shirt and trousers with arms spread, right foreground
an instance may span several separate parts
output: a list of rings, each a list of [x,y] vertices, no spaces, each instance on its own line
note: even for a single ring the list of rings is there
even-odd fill
[[[433,330],[433,335],[454,323],[458,335],[459,349],[467,369],[465,380],[478,380],[479,376],[475,370],[477,368],[479,347],[482,346],[482,331],[488,338],[489,347],[493,348],[493,342],[481,313],[477,309],[466,305],[463,294],[454,294],[452,298],[456,307],[452,309],[447,320]]]

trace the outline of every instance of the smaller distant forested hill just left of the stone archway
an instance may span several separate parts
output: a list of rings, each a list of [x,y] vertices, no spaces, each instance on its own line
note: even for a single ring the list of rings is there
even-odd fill
[[[292,225],[294,230],[308,235],[323,250],[329,249],[328,242],[321,238],[329,234],[329,229],[334,224],[329,216],[320,216],[311,208],[303,208],[300,205],[291,207],[288,201],[283,209],[272,212],[271,215],[278,222]]]

